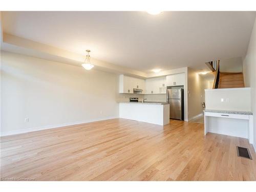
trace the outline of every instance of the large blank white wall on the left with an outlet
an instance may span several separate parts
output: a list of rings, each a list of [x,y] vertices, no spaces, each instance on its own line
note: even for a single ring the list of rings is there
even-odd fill
[[[1,52],[1,133],[118,117],[117,84],[112,73]]]

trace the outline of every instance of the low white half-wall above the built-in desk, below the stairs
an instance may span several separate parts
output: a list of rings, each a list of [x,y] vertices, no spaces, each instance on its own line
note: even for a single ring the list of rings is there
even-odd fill
[[[205,109],[251,111],[250,94],[250,88],[205,90]]]

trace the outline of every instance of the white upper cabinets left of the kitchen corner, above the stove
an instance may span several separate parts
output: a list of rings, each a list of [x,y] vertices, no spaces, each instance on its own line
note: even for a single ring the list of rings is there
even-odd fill
[[[119,75],[119,93],[134,93],[133,89],[142,89],[144,91],[145,80],[126,75]]]

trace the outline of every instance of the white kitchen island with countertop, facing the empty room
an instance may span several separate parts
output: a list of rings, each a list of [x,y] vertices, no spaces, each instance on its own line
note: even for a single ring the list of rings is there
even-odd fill
[[[165,125],[169,123],[169,104],[164,102],[120,102],[119,117]]]

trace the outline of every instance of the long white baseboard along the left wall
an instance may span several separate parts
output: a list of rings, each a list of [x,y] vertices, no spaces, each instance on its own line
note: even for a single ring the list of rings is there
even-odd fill
[[[32,128],[27,128],[27,129],[22,129],[17,131],[1,132],[0,136],[2,137],[2,136],[16,135],[16,134],[28,133],[28,132],[34,132],[34,131],[40,131],[40,130],[48,130],[48,129],[58,128],[58,127],[64,127],[64,126],[70,126],[70,125],[76,125],[76,124],[82,124],[82,123],[90,123],[90,122],[115,119],[115,118],[119,118],[119,117],[118,116],[107,117],[107,118],[99,118],[99,119],[92,119],[92,120],[85,120],[85,121],[76,121],[71,123],[61,123],[61,124],[54,124],[54,125],[32,127]]]

